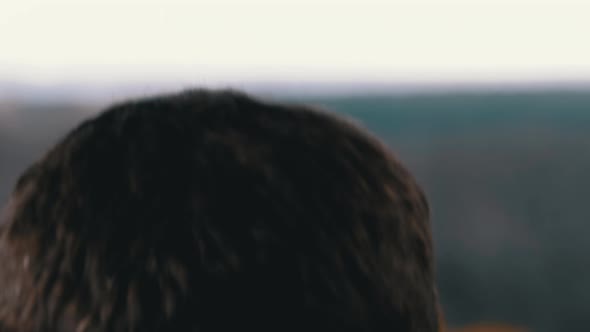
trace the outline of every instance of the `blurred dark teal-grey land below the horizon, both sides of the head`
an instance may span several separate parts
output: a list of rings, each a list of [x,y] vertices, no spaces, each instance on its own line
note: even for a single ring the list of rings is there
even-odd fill
[[[355,118],[416,175],[449,325],[586,330],[590,90],[282,99]],[[0,203],[26,165],[103,106],[0,101]]]

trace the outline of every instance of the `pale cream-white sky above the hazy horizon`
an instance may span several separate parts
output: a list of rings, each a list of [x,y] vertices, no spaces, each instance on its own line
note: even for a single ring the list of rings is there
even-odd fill
[[[0,80],[590,80],[590,1],[0,0]]]

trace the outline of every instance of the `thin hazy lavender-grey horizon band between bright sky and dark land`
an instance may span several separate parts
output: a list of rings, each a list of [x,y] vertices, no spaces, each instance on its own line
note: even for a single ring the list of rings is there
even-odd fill
[[[590,92],[587,80],[113,80],[92,82],[84,80],[58,82],[31,82],[0,79],[0,100],[12,99],[62,99],[105,100],[125,97],[174,93],[188,89],[233,89],[247,93],[278,97],[313,96],[377,96],[377,95],[432,95],[461,93],[542,93],[542,92]]]

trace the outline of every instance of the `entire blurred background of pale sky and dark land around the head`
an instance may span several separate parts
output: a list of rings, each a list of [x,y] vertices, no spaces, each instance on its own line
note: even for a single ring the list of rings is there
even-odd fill
[[[590,324],[590,3],[0,2],[0,204],[82,119],[232,87],[349,115],[433,211],[451,326]]]

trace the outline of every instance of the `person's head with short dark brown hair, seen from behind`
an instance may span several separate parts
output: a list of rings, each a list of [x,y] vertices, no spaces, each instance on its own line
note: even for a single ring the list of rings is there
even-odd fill
[[[423,192],[306,106],[206,90],[112,106],[24,173],[4,219],[7,330],[437,330]]]

